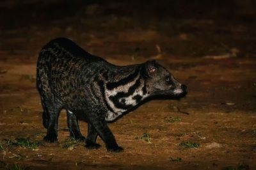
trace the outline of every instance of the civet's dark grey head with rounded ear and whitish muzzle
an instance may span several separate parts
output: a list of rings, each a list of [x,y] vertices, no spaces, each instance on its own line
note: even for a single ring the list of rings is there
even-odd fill
[[[146,89],[150,95],[172,95],[184,97],[186,86],[178,82],[166,68],[156,61],[147,61],[143,67]]]

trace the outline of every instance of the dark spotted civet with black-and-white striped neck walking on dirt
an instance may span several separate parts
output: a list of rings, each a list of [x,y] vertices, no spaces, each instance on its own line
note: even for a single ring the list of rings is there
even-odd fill
[[[58,116],[61,109],[66,109],[70,136],[84,140],[77,120],[88,122],[86,148],[99,148],[99,135],[109,151],[122,151],[108,128],[109,121],[152,95],[181,96],[186,91],[156,61],[112,65],[67,38],[56,38],[43,47],[36,71],[47,128],[45,141],[57,141]]]

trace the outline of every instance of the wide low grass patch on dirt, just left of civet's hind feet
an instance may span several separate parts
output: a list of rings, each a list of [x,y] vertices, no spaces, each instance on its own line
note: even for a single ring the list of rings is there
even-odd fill
[[[14,142],[8,140],[6,143],[8,145],[11,145],[11,146],[18,146],[18,147],[22,147],[22,148],[30,148],[30,149],[33,149],[33,150],[35,150],[36,148],[38,148],[38,146],[41,145],[40,143],[32,142],[29,137],[27,137],[27,138],[24,138],[24,137],[16,138]]]

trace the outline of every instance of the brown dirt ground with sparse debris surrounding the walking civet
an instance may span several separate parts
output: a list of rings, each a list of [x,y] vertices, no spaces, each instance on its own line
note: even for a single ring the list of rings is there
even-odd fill
[[[250,5],[15,2],[0,3],[0,169],[256,169]],[[188,86],[188,95],[150,100],[109,124],[122,153],[106,151],[100,138],[99,150],[67,141],[65,111],[58,143],[45,143],[36,59],[58,36],[116,65],[157,59]],[[86,123],[80,127],[86,135]],[[20,137],[40,144],[17,146]],[[184,146],[188,141],[194,148]]]

